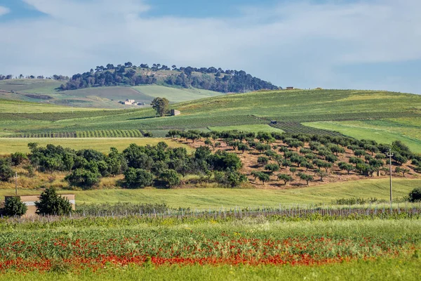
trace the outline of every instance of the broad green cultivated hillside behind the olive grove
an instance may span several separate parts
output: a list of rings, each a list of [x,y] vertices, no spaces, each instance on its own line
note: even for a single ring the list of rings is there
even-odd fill
[[[239,125],[243,125],[241,129],[244,129],[244,126],[250,125],[268,126],[270,120],[276,120],[278,124],[272,125],[273,129],[289,133],[328,133],[333,130],[356,138],[371,138],[373,130],[370,129],[374,128],[382,134],[385,143],[400,139],[410,145],[413,151],[421,152],[421,96],[408,93],[259,91],[178,103],[171,105],[171,108],[180,110],[182,115],[151,118],[155,116],[152,109],[112,110],[107,114],[95,111],[83,114],[75,112],[74,115],[24,115],[16,114],[16,107],[9,107],[6,112],[13,112],[13,116],[6,113],[0,115],[0,134],[140,129],[152,131],[154,136],[165,136],[170,129],[209,131],[213,127],[223,130],[228,129],[225,128],[227,126],[232,129],[232,126]],[[349,122],[363,122],[366,126],[358,125],[352,130],[341,131],[342,124]],[[255,128],[253,131],[256,131]]]

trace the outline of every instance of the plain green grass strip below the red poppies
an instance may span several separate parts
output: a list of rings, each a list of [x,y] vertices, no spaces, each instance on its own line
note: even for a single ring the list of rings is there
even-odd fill
[[[418,259],[377,259],[328,266],[167,266],[145,270],[143,266],[105,268],[95,273],[8,273],[0,280],[420,280]],[[391,269],[392,268],[392,269]],[[404,277],[404,279],[401,279]]]

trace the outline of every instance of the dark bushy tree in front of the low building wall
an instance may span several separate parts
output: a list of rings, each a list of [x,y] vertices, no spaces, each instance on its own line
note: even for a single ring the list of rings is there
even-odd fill
[[[39,201],[35,202],[36,214],[62,216],[72,211],[72,204],[65,197],[57,194],[55,188],[46,188]]]

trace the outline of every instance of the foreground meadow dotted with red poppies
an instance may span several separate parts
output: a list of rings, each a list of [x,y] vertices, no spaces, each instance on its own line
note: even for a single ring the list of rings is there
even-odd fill
[[[0,279],[417,280],[420,228],[416,218],[2,220]]]

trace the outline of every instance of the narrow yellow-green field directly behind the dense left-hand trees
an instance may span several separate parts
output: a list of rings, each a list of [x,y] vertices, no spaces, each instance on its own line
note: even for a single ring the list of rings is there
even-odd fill
[[[0,155],[8,155],[13,152],[29,152],[28,143],[39,143],[41,146],[48,144],[61,145],[74,150],[92,148],[107,153],[109,148],[112,147],[121,151],[128,148],[131,143],[156,145],[160,141],[165,141],[171,147],[184,147],[192,151],[192,148],[187,145],[163,138],[0,138]]]

